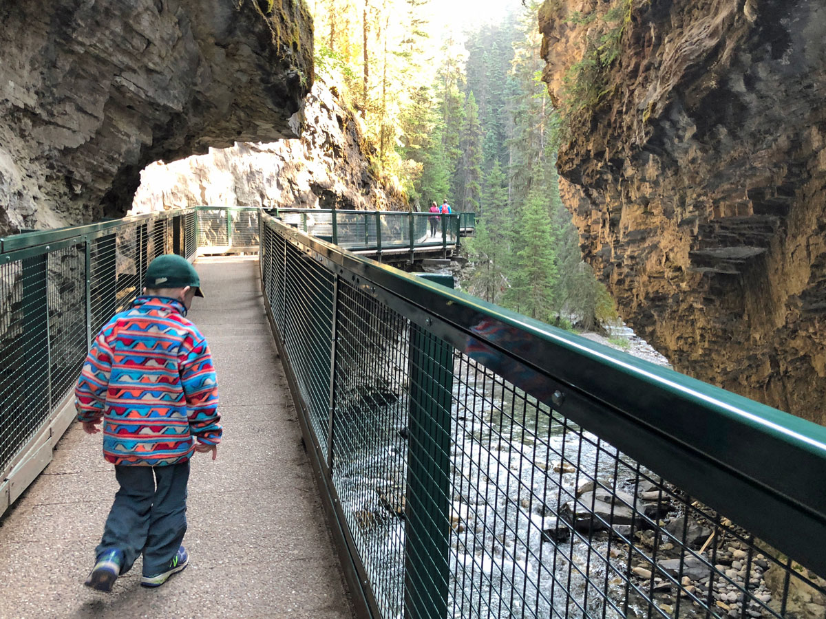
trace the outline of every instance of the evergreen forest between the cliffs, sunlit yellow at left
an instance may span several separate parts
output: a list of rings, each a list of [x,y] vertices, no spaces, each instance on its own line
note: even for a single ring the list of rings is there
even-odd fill
[[[412,210],[446,199],[477,213],[463,288],[566,328],[615,320],[559,195],[562,122],[541,80],[539,2],[502,2],[487,22],[431,0],[309,4],[316,71],[363,121],[374,172]]]

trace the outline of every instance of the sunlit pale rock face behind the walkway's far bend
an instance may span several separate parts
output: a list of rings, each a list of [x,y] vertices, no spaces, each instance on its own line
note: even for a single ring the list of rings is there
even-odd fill
[[[235,144],[141,174],[133,212],[186,206],[406,210],[400,189],[377,179],[358,116],[316,80],[301,139]]]

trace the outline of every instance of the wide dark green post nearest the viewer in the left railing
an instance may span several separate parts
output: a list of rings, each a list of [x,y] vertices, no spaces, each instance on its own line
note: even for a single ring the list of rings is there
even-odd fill
[[[47,248],[48,249],[48,248]],[[22,260],[23,337],[20,376],[26,390],[36,397],[26,404],[26,418],[43,419],[51,410],[50,342],[49,342],[49,253],[38,253]],[[34,409],[34,410],[31,410]]]

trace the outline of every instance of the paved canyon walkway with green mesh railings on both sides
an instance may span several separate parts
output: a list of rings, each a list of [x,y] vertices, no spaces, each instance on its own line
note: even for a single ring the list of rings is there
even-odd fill
[[[459,219],[0,240],[0,617],[823,617],[826,429],[350,251],[453,251]],[[70,391],[170,252],[202,274],[225,441],[193,460],[188,569],[95,593],[115,480]]]

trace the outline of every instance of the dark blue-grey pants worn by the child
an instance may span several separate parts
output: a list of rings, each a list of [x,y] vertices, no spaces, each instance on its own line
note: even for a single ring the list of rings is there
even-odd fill
[[[121,574],[144,555],[144,576],[169,569],[187,532],[187,482],[189,461],[168,466],[115,466],[121,489],[106,521],[100,557],[107,550],[122,550]]]

